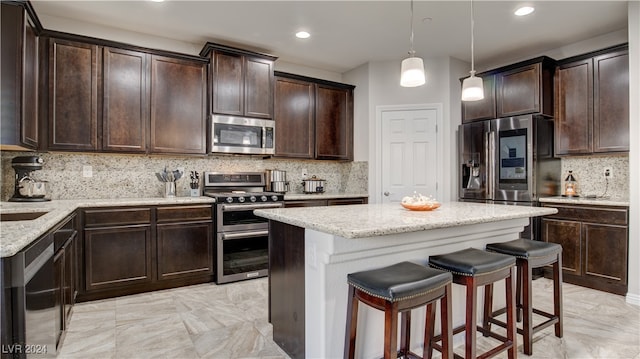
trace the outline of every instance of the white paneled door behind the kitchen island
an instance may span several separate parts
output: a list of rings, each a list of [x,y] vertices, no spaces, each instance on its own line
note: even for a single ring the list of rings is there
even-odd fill
[[[437,108],[381,112],[382,202],[400,202],[414,192],[442,200],[438,170]],[[441,174],[440,174],[441,175]]]

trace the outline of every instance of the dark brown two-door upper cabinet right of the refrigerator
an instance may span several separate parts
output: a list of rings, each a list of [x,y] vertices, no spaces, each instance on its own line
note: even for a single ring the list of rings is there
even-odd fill
[[[581,155],[629,150],[629,57],[616,46],[559,63],[555,150]]]

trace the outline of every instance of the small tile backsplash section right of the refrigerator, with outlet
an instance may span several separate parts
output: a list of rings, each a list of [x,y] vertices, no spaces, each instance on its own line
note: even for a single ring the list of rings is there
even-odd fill
[[[604,169],[611,168],[612,178],[604,177]],[[562,185],[569,171],[578,182],[578,194],[596,195],[610,198],[629,197],[629,156],[585,156],[562,158]],[[606,191],[606,193],[605,193]]]

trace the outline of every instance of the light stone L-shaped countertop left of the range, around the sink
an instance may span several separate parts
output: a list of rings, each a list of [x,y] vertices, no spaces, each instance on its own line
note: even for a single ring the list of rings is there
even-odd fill
[[[0,202],[0,213],[47,212],[28,221],[0,223],[0,257],[11,257],[47,233],[66,216],[81,207],[116,207],[214,203],[210,197],[118,198],[53,200],[47,202]]]

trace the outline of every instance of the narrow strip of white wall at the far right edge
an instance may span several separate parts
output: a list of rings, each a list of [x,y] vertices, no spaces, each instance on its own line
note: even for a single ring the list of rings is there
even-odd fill
[[[640,305],[640,2],[629,1],[629,289],[627,302]]]

